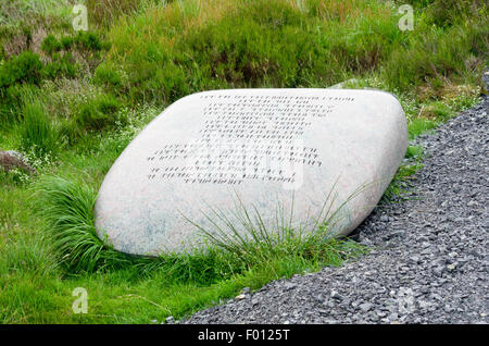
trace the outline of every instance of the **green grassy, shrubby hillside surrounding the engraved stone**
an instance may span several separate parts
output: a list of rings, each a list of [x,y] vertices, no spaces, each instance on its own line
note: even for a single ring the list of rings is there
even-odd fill
[[[242,287],[365,251],[351,240],[287,238],[278,247],[129,258],[93,234],[104,174],[171,102],[208,89],[376,87],[398,96],[410,136],[471,107],[488,63],[485,1],[74,0],[0,3],[0,148],[37,174],[0,170],[0,322],[149,323]],[[410,147],[386,198],[421,165]],[[326,225],[324,225],[326,226]],[[247,254],[244,256],[244,254]],[[89,295],[76,314],[75,287]]]

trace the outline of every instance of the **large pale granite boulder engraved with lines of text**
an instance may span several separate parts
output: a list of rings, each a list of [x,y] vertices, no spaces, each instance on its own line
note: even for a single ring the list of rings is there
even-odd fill
[[[383,91],[193,94],[154,119],[113,164],[96,226],[124,252],[183,251],[202,242],[187,219],[212,231],[214,209],[239,224],[237,196],[271,228],[278,209],[308,227],[334,187],[331,210],[371,184],[342,209],[335,232],[348,234],[381,197],[406,144],[401,106]]]

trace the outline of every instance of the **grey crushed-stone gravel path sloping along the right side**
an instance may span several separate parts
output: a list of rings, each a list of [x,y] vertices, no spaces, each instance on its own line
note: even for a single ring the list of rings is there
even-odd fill
[[[417,139],[416,198],[377,207],[355,231],[369,255],[181,323],[488,323],[488,110],[485,97]]]

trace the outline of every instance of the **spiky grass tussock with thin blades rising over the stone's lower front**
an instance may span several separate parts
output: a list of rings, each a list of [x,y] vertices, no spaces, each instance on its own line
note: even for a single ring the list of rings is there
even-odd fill
[[[359,187],[333,209],[335,184],[322,210],[311,218],[314,226],[293,225],[293,198],[290,211],[277,202],[275,221],[265,223],[258,208],[244,206],[238,195],[234,209],[228,212],[210,207],[211,213],[205,214],[205,218],[212,224],[211,228],[187,220],[200,231],[208,245],[231,254],[248,269],[274,268],[277,263],[302,263],[311,268],[339,265],[343,260],[353,259],[366,250],[348,238],[335,238],[335,232],[341,228],[343,208],[368,185]]]

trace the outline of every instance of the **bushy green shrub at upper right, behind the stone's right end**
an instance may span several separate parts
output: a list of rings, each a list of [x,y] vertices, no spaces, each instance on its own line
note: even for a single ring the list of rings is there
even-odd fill
[[[435,95],[448,81],[477,83],[482,62],[489,57],[488,37],[487,21],[480,20],[443,30],[425,28],[415,33],[404,47],[392,51],[380,69],[383,78],[391,89],[401,92],[425,85]],[[468,63],[474,54],[479,59]]]

